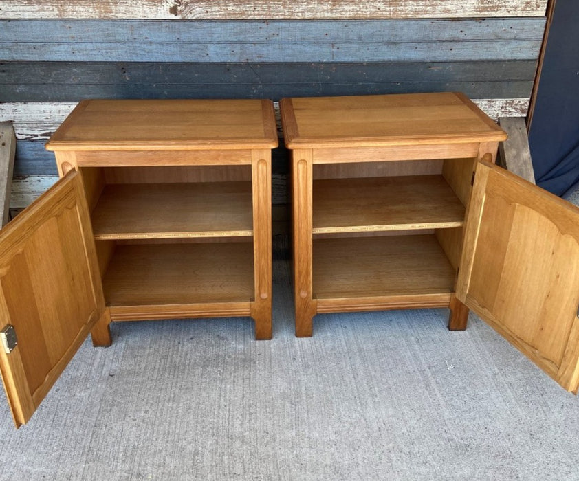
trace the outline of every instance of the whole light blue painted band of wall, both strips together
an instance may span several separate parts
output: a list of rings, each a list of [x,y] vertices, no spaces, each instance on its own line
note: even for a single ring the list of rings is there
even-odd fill
[[[0,22],[0,60],[285,63],[521,60],[537,58],[544,25],[543,19],[183,22],[179,27],[172,24],[4,21]],[[301,24],[305,33],[295,24]]]

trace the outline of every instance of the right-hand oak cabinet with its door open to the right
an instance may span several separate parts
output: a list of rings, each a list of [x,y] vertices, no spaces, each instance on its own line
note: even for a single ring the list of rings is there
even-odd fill
[[[579,210],[494,166],[505,133],[459,93],[281,101],[296,335],[317,313],[472,309],[579,384]]]

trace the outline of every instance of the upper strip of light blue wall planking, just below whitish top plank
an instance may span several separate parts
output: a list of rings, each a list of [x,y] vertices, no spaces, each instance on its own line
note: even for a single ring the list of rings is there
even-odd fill
[[[545,19],[361,21],[0,21],[0,41],[32,43],[367,43],[535,40]]]

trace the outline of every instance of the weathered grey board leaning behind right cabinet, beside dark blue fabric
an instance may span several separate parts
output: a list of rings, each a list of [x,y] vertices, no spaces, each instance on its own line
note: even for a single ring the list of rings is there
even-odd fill
[[[509,135],[505,142],[499,144],[499,162],[519,177],[535,183],[527,124],[522,117],[500,118],[499,124]]]

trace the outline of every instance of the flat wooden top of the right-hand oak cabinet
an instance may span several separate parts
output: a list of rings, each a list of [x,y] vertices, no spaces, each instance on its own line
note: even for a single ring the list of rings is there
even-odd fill
[[[287,148],[499,142],[506,133],[461,93],[285,98]]]

